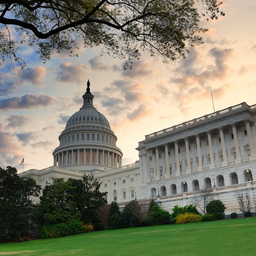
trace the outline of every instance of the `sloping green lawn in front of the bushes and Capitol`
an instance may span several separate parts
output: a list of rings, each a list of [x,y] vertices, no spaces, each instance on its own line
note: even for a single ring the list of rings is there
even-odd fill
[[[0,255],[239,256],[256,254],[256,218],[97,231],[0,244]]]

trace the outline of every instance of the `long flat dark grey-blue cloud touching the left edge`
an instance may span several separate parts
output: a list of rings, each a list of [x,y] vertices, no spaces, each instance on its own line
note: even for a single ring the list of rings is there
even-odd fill
[[[0,109],[24,109],[24,108],[37,108],[38,106],[46,107],[56,102],[56,98],[44,94],[35,95],[27,94],[22,97],[13,97],[9,99],[0,100]]]

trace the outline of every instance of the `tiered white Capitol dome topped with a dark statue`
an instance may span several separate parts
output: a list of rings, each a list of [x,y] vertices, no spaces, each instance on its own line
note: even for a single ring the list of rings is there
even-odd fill
[[[116,147],[117,137],[107,118],[94,108],[93,98],[88,80],[82,108],[68,119],[59,136],[60,146],[53,151],[53,165],[81,171],[122,166],[123,153]]]

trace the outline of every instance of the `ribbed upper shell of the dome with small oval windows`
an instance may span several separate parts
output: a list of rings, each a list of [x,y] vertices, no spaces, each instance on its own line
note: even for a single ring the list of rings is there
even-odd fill
[[[80,108],[68,119],[65,129],[77,124],[102,125],[111,130],[107,118],[93,107]]]

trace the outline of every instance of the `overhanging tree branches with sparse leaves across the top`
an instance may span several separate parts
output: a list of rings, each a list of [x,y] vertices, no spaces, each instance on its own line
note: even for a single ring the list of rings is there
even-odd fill
[[[198,10],[195,8],[198,4]],[[8,0],[0,1],[0,58],[14,59],[24,67],[19,44],[37,45],[36,52],[44,61],[52,51],[74,52],[76,37],[84,47],[100,46],[103,53],[132,59],[140,58],[140,50],[160,56],[164,63],[185,58],[187,46],[202,44],[199,13],[207,20],[217,19],[222,4],[218,0]],[[21,40],[14,41],[10,29],[15,27]]]

